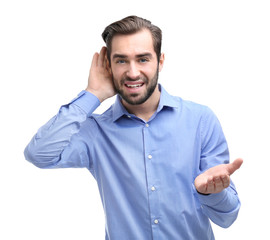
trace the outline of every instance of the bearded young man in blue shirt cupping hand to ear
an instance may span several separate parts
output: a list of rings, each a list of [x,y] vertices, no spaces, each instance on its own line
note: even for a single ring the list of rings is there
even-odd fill
[[[130,16],[102,34],[88,86],[25,149],[40,168],[86,167],[96,179],[106,239],[214,239],[209,219],[229,227],[240,202],[221,126],[209,108],[158,85],[161,30]],[[93,111],[117,95],[103,114]]]

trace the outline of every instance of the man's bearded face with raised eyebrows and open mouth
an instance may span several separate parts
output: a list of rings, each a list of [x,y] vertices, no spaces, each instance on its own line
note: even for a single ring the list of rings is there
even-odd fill
[[[158,63],[149,30],[116,35],[112,40],[111,70],[116,91],[131,105],[144,103],[157,88]]]

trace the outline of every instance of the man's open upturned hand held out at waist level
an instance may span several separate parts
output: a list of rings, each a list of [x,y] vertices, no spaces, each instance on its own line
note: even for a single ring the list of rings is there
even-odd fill
[[[230,185],[230,175],[241,167],[243,160],[237,158],[229,164],[212,167],[196,177],[194,184],[201,194],[219,193]]]

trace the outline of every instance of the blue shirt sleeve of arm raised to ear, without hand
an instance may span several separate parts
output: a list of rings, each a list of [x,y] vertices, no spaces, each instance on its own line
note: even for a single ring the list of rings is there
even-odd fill
[[[99,104],[94,95],[82,91],[38,130],[25,148],[25,158],[39,168],[88,167],[89,157],[83,151],[84,146],[72,140]]]

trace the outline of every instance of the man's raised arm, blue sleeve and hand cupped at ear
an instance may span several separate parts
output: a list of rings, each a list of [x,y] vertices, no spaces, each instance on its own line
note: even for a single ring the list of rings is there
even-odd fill
[[[87,91],[62,106],[58,114],[38,130],[24,152],[28,161],[40,168],[90,168],[87,146],[80,141],[78,133],[100,102],[115,94],[106,62],[103,47],[100,54],[93,57]]]

